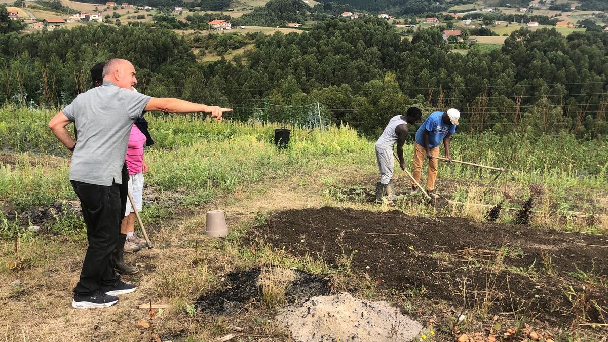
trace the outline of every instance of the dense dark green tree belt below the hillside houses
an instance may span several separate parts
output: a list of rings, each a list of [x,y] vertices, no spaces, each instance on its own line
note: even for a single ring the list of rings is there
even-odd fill
[[[525,122],[537,132],[606,134],[608,35],[513,32],[502,49],[447,48],[438,29],[402,40],[383,19],[331,19],[300,34],[254,35],[255,49],[199,64],[184,37],[142,27],[85,26],[0,35],[0,96],[18,105],[63,105],[89,85],[89,68],[110,57],[133,61],[140,90],[232,106],[232,117],[349,122],[375,134],[419,105],[450,106],[461,130],[500,133]],[[215,38],[218,47],[242,41]],[[276,106],[282,105],[284,107]],[[314,114],[314,115],[313,115]]]

